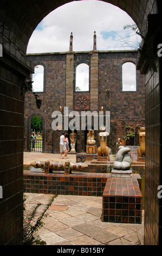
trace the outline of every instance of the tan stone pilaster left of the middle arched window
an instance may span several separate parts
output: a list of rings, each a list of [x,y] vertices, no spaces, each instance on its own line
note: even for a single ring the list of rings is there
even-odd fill
[[[73,111],[74,94],[74,53],[67,53],[66,59],[66,107]]]

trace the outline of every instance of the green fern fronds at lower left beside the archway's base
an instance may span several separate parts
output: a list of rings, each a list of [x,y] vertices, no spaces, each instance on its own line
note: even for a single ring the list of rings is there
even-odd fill
[[[41,215],[38,216],[37,220],[34,221],[34,218],[37,215],[38,208],[42,205],[41,203],[38,203],[36,206],[33,207],[31,212],[23,217],[23,245],[46,245],[46,242],[42,241],[41,238],[36,235],[36,232],[38,229],[41,229],[44,225],[43,219],[48,217],[48,214],[46,214],[46,211],[49,209],[51,204],[54,202],[54,199],[57,197],[57,195],[51,196],[49,198],[49,202],[44,208],[44,210],[41,212]],[[24,196],[24,202],[26,200],[26,197]],[[25,203],[23,203],[23,211],[25,211]]]

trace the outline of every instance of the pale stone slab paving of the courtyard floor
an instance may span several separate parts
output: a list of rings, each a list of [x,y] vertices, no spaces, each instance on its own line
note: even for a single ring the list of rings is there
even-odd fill
[[[76,156],[69,154],[69,161]],[[24,165],[36,160],[60,159],[57,154],[24,152]],[[41,203],[45,206],[50,195],[25,193],[27,211]],[[49,208],[44,226],[38,231],[47,245],[143,245],[144,211],[142,224],[102,222],[102,197],[59,195]]]

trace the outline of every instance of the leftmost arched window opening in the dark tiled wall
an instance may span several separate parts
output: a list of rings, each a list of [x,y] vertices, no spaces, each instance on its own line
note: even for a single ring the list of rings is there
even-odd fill
[[[42,65],[35,66],[32,80],[33,80],[33,91],[43,92],[44,67]]]

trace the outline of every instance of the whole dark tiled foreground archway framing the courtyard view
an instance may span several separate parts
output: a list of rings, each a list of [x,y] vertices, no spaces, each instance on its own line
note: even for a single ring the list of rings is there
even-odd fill
[[[0,199],[0,209],[3,209],[1,221],[4,229],[1,233],[2,245],[21,245],[23,237],[23,109],[24,93],[22,83],[34,70],[34,64],[25,56],[31,34],[40,21],[57,7],[72,1],[46,1],[39,4],[35,1],[3,0],[0,9],[0,44],[3,46],[3,57],[0,58],[0,177],[4,198]],[[161,1],[123,0],[105,1],[126,11],[139,27],[147,33],[148,14],[157,17],[161,14]],[[155,15],[155,16],[154,16]],[[152,19],[152,16],[151,16]],[[154,19],[154,20],[155,20]],[[151,25],[153,21],[151,20]],[[157,26],[157,22],[155,25]],[[158,245],[161,241],[160,199],[155,192],[161,178],[161,119],[160,119],[160,83],[161,60],[157,74],[145,70],[146,75],[146,209],[145,209],[145,244]],[[152,101],[152,99],[155,99]],[[151,102],[151,104],[150,104]],[[10,120],[14,120],[11,123]],[[154,136],[153,136],[154,134]],[[7,143],[17,144],[14,154]],[[12,173],[8,175],[8,173]],[[14,175],[15,174],[15,175]],[[10,177],[10,178],[9,178]],[[13,180],[13,177],[14,180]],[[14,190],[10,191],[10,187]],[[15,204],[10,204],[15,202]],[[15,211],[17,216],[15,218]],[[10,216],[11,222],[7,221]],[[12,227],[15,225],[15,229]],[[12,230],[12,232],[11,232]]]

